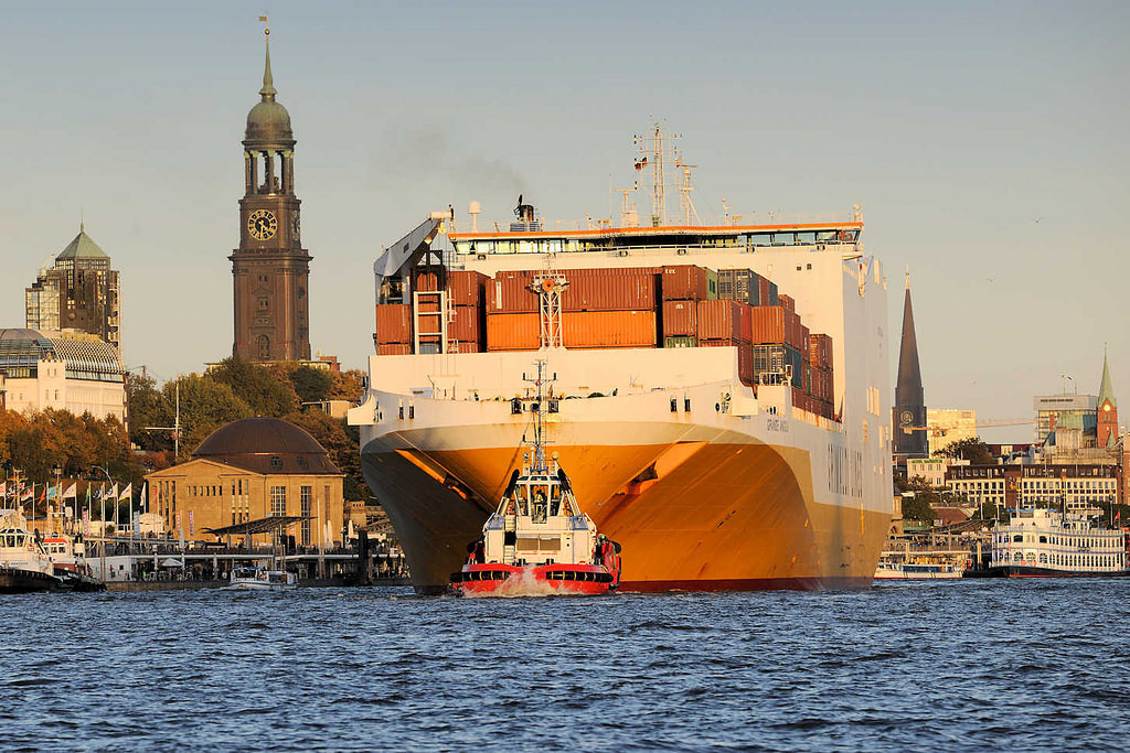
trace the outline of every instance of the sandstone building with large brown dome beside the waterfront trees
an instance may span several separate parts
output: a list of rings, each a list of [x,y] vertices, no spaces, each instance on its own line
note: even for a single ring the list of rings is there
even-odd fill
[[[252,418],[210,434],[192,459],[146,476],[150,510],[165,529],[207,539],[209,529],[297,516],[299,546],[342,541],[344,474],[316,439],[280,419]],[[180,529],[177,528],[180,520]]]

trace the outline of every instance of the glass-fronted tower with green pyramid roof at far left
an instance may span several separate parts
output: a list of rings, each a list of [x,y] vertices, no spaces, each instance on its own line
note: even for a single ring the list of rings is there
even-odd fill
[[[121,288],[110,256],[86,234],[78,235],[24,291],[28,330],[73,330],[97,335],[121,352]]]

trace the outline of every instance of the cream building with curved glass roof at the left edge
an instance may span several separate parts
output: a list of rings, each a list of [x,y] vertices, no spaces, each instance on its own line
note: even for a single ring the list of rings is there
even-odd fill
[[[8,410],[50,408],[125,423],[125,367],[118,350],[97,335],[0,330],[0,374]]]

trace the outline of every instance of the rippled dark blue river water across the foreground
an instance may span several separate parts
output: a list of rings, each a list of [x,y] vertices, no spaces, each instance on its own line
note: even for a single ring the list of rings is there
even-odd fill
[[[0,750],[1125,750],[1130,579],[0,597]]]

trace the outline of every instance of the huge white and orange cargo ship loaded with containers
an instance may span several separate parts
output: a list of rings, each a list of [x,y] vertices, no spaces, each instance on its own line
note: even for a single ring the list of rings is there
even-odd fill
[[[453,228],[434,212],[374,264],[362,469],[419,590],[443,588],[521,463],[556,375],[549,450],[623,544],[626,590],[871,584],[892,515],[886,279],[858,208],[697,221],[660,129],[641,224]],[[680,217],[668,221],[663,165]]]

